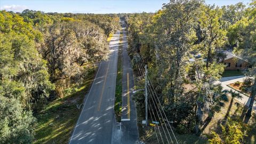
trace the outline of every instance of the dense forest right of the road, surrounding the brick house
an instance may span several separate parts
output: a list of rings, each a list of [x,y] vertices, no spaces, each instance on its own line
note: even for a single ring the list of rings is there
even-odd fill
[[[253,100],[246,111],[247,120],[226,118],[222,133],[212,131],[209,138],[211,143],[246,143],[246,123],[256,94],[255,12],[256,2],[218,7],[198,0],[171,0],[156,13],[124,16],[130,57],[141,81],[138,86],[144,86],[143,74],[139,73],[143,69],[138,60],[141,57],[148,65],[165,114],[178,133],[201,135],[203,125],[220,112],[227,95],[237,97],[222,91],[216,83],[225,68],[221,61],[226,55],[219,51],[231,50],[250,63],[243,72],[251,77],[248,81]],[[197,55],[198,59],[189,62]],[[136,95],[137,109],[143,109],[144,100],[143,92]],[[157,110],[153,107],[152,111]]]

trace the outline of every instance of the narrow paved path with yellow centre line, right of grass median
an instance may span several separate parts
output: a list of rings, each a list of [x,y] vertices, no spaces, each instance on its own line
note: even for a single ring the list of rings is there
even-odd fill
[[[133,81],[133,70],[131,65],[131,59],[128,56],[127,48],[127,32],[124,27],[124,22],[122,22],[122,46],[123,46],[123,91],[122,91],[122,122],[121,122],[121,130],[122,144],[132,144],[137,143],[138,136],[138,128],[137,128],[137,114],[135,109],[135,102],[132,100],[132,90],[134,86]]]

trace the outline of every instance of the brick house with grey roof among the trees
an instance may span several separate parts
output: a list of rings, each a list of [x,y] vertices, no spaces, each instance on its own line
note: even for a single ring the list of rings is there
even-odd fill
[[[226,65],[225,70],[246,69],[248,62],[240,57],[237,57],[232,51],[221,51],[226,55],[226,58],[222,61]]]

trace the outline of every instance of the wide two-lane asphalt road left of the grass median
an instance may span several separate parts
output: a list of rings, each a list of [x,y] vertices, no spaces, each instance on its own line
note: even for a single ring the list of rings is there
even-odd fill
[[[69,143],[113,143],[114,99],[118,60],[119,31],[111,39],[109,59],[102,61],[91,90],[86,95]]]

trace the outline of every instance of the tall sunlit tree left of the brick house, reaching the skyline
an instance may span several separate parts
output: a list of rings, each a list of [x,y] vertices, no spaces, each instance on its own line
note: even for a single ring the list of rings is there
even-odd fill
[[[220,109],[220,101],[225,100],[225,94],[221,94],[221,89],[213,89],[214,82],[220,78],[220,74],[224,70],[224,66],[219,62],[217,55],[218,49],[225,44],[226,31],[221,28],[221,10],[219,7],[201,6],[198,25],[196,27],[197,41],[194,43],[193,51],[205,54],[206,63],[199,62],[196,64],[196,133],[199,134],[200,127],[203,122],[203,116],[207,113],[211,119],[214,111]],[[221,86],[220,86],[221,87]],[[214,100],[214,95],[222,95]],[[213,102],[213,103],[212,103]]]

